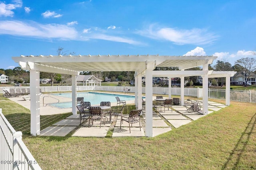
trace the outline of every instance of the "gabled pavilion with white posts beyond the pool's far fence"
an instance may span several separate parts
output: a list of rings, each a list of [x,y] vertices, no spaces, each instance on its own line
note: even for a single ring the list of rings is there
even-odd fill
[[[83,84],[83,86],[96,86],[101,85],[102,80],[96,78],[94,75],[78,75],[76,78],[77,84]]]

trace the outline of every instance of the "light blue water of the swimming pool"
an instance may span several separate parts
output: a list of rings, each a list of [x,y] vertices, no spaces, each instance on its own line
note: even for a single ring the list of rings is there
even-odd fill
[[[66,98],[72,98],[72,93],[59,93],[53,94],[55,96],[61,96]],[[91,105],[100,105],[100,102],[116,102],[116,96],[120,98],[120,100],[135,100],[134,96],[126,96],[122,94],[106,94],[106,93],[93,93],[93,92],[78,92],[76,94],[77,97],[84,97],[84,101],[91,102]],[[64,102],[64,103],[56,103],[50,104],[50,106],[55,106],[59,108],[71,108],[72,102]]]

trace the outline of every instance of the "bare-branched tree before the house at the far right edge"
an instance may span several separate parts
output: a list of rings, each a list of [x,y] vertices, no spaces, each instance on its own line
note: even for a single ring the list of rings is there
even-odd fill
[[[251,57],[246,57],[239,59],[235,62],[234,68],[237,71],[241,71],[242,74],[245,76],[245,86],[247,86],[248,78],[252,72],[256,70],[256,59]]]

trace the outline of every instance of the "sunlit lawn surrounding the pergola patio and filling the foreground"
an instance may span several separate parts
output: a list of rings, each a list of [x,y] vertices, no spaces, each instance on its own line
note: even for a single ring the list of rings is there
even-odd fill
[[[255,104],[231,102],[154,138],[32,137],[28,109],[8,99],[1,100],[0,108],[14,129],[24,133],[24,143],[44,170],[256,169]],[[41,116],[41,129],[64,115]]]

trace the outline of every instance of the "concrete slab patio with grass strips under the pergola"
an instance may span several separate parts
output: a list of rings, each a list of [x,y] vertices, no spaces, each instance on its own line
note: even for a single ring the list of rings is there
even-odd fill
[[[191,103],[191,101],[185,101]],[[198,101],[202,102],[202,101]],[[217,111],[226,107],[223,104],[218,104],[215,102],[208,102],[208,114],[213,111]],[[128,115],[124,115],[128,116]],[[192,111],[188,112],[185,106],[173,106],[173,111],[153,111],[153,137],[171,131],[174,128],[178,128],[182,125],[195,121],[201,117],[204,117],[198,112]],[[132,125],[131,133],[129,131],[129,125],[127,122],[121,125],[120,128],[120,116],[115,116],[112,121],[108,121],[100,128],[100,121],[94,122],[94,125],[88,127],[88,120],[86,119],[80,127],[79,115],[71,115],[66,119],[55,123],[54,125],[47,127],[40,131],[41,136],[66,136],[68,133],[77,129],[72,136],[77,137],[106,137],[110,129],[113,130],[112,137],[144,137],[145,136],[145,111],[142,111],[141,116],[141,131],[139,123]]]

